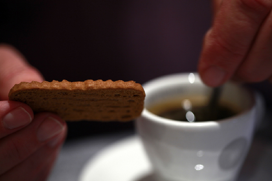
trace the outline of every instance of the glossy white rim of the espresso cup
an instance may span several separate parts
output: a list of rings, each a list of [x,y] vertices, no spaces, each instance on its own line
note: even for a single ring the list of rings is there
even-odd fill
[[[160,81],[163,80],[167,80],[169,78],[177,78],[177,77],[188,77],[188,75],[190,73],[193,73],[194,75],[196,75],[195,77],[195,81],[197,82],[202,82],[201,79],[198,76],[198,73],[194,73],[194,72],[186,72],[186,73],[176,73],[176,74],[170,74],[170,75],[165,75],[165,76],[161,76],[155,79],[152,79],[150,81],[148,81],[147,83],[143,84],[144,90],[146,91],[146,94],[148,94],[148,91],[150,90],[150,86],[151,84],[157,84]],[[169,83],[171,84],[171,83]],[[250,114],[252,111],[254,111],[254,106],[256,104],[256,100],[254,97],[254,93],[251,90],[245,89],[245,91],[248,91],[251,99],[252,99],[252,103],[249,106],[249,108],[243,110],[241,113],[238,113],[234,116],[228,117],[228,118],[224,118],[224,119],[218,119],[218,120],[211,120],[211,121],[205,121],[205,122],[185,122],[185,121],[176,121],[176,120],[172,120],[172,119],[167,119],[161,116],[158,116],[154,113],[151,113],[149,110],[147,110],[146,107],[144,107],[143,111],[142,111],[142,115],[145,118],[148,118],[148,120],[152,121],[152,122],[157,122],[160,124],[164,124],[164,125],[169,125],[169,126],[180,126],[180,127],[187,127],[187,128],[196,128],[196,127],[207,127],[207,128],[214,128],[214,127],[219,127],[221,124],[225,124],[226,122],[233,122],[236,121],[237,119],[240,119],[240,117],[243,117],[247,114]]]

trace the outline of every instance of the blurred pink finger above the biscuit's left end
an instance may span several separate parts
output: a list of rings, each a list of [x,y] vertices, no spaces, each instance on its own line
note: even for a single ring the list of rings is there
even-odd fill
[[[15,84],[43,80],[40,72],[29,65],[18,50],[0,44],[0,100],[8,100],[8,92]]]

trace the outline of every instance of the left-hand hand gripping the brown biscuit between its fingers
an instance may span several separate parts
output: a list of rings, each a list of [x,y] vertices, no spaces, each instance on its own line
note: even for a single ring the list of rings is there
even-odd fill
[[[43,81],[11,46],[0,45],[0,180],[46,180],[65,138],[67,126],[52,113],[34,116],[8,92],[21,81]]]

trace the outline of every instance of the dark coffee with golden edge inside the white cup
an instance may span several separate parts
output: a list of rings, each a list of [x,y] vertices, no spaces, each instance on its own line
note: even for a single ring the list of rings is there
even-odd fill
[[[156,106],[148,108],[151,113],[158,116],[189,122],[202,122],[225,119],[238,114],[241,110],[228,103],[219,103],[213,110],[209,110],[204,103],[196,100],[163,101]]]

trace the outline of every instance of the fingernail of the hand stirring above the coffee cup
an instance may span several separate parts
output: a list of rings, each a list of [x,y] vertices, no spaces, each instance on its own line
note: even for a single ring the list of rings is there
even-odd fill
[[[212,66],[212,67],[209,67],[202,74],[202,80],[209,86],[216,87],[222,83],[222,81],[225,78],[225,75],[226,75],[226,72],[222,68],[218,66]]]

